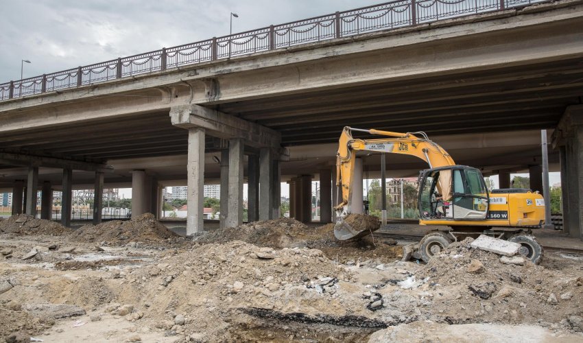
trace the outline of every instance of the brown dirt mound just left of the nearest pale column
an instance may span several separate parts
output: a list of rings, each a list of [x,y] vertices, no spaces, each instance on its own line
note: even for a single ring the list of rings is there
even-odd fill
[[[127,244],[130,241],[159,244],[163,241],[184,241],[182,237],[145,213],[132,220],[114,220],[99,225],[85,225],[71,233],[71,239],[87,242],[106,241],[108,244]]]

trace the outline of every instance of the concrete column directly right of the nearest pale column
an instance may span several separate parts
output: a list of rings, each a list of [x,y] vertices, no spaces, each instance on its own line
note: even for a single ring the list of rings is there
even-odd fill
[[[243,140],[229,140],[228,212],[226,227],[243,224]]]

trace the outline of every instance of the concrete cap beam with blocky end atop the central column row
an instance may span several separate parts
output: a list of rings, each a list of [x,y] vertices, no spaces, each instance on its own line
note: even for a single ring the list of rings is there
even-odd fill
[[[174,106],[170,110],[172,125],[179,128],[204,128],[222,139],[243,139],[252,147],[280,147],[281,134],[265,126],[199,105]]]

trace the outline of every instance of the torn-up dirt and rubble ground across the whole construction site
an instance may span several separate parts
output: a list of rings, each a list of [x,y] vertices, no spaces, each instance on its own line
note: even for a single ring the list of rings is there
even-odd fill
[[[191,239],[152,215],[12,217],[0,342],[583,342],[582,255],[509,263],[466,239],[425,264],[398,241],[289,219]]]

